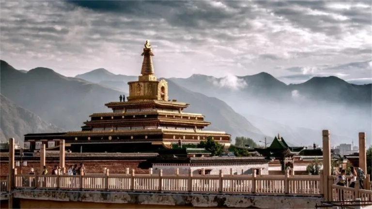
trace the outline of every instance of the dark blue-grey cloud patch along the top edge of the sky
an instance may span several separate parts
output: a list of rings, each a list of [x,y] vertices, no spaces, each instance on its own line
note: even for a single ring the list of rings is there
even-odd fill
[[[234,10],[225,10],[211,6],[207,1],[85,1],[71,0],[71,4],[92,9],[96,12],[118,13],[125,17],[160,19],[164,18],[172,26],[190,28],[229,28],[229,25],[238,25],[234,19],[241,15],[253,16],[249,8],[236,7]],[[227,3],[227,2],[224,2]],[[237,6],[236,4],[230,4]],[[249,13],[251,12],[251,13]],[[242,16],[243,17],[243,16]]]

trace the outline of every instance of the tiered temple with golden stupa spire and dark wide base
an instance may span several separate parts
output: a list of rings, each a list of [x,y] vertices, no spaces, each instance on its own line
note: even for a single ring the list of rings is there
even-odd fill
[[[73,152],[154,152],[187,144],[199,144],[208,136],[226,147],[230,134],[207,131],[210,122],[197,113],[186,113],[189,104],[169,100],[168,83],[158,81],[153,66],[151,45],[143,49],[143,63],[138,81],[128,82],[129,96],[105,104],[107,113],[94,113],[81,131],[49,134],[26,134],[25,149],[58,149],[59,139]]]

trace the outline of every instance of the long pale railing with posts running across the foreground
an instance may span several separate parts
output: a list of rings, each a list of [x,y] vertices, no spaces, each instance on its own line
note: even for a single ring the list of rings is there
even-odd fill
[[[136,175],[95,174],[86,176],[67,175],[15,175],[15,188],[110,190],[110,191],[167,191],[197,193],[235,194],[301,194],[320,195],[320,176],[276,175],[219,175],[159,174]]]

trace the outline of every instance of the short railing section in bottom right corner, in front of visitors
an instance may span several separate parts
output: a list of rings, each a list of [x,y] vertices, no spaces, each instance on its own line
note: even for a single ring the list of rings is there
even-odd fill
[[[355,181],[355,188],[332,185],[332,201],[351,202],[360,198],[364,204],[372,205],[372,191],[359,188],[359,181]]]

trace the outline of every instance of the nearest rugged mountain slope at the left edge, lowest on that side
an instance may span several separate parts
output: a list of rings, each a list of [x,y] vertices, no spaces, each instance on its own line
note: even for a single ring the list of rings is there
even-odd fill
[[[14,137],[23,144],[23,135],[29,133],[56,133],[64,130],[45,122],[39,116],[16,105],[3,95],[0,95],[1,140],[7,141]]]

